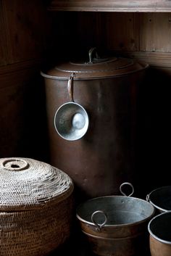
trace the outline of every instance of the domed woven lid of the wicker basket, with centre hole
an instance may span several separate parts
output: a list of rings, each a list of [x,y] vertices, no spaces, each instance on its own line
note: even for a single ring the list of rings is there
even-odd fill
[[[0,159],[0,211],[31,210],[72,194],[72,179],[62,170],[30,158]]]

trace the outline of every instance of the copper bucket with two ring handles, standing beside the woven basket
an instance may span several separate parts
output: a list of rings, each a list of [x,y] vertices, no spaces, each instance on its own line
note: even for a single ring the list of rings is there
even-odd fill
[[[147,226],[155,210],[146,200],[130,195],[96,197],[78,206],[81,230],[96,255],[144,256],[149,253]]]

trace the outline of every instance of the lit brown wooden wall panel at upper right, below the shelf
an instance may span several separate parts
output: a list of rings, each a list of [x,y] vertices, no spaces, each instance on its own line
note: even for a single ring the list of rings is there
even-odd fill
[[[171,51],[171,13],[139,14],[140,51]]]

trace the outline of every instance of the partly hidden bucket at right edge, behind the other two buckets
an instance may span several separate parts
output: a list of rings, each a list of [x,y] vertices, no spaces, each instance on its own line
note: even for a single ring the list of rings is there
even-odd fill
[[[146,200],[149,201],[159,213],[171,210],[171,186],[162,186],[158,189],[154,189],[147,194]]]

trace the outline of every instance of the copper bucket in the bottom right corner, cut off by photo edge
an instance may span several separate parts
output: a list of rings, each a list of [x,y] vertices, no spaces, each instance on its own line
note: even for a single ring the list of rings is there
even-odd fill
[[[162,212],[148,225],[151,256],[171,255],[171,212]]]

